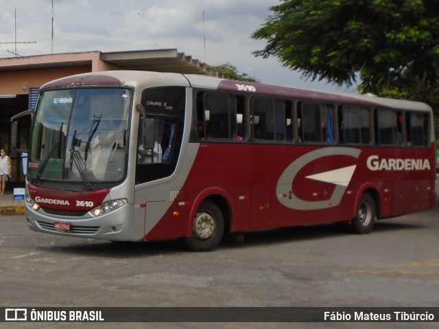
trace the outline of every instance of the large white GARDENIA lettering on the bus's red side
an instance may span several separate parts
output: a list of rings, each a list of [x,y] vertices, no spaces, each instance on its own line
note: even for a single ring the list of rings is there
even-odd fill
[[[431,170],[428,159],[379,159],[378,155],[368,157],[369,170]]]

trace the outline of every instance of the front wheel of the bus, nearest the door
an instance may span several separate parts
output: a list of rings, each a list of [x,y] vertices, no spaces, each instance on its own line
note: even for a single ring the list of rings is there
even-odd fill
[[[221,209],[210,200],[202,202],[193,218],[192,235],[183,239],[189,251],[211,251],[224,235],[224,216]]]

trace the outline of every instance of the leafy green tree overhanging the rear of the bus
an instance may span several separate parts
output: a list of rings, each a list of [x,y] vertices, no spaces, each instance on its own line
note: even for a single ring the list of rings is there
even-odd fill
[[[281,0],[252,38],[304,78],[439,107],[439,0]]]

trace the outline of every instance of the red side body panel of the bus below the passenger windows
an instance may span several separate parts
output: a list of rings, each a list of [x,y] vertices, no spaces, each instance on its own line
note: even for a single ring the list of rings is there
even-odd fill
[[[433,146],[432,146],[433,147]],[[370,190],[377,196],[379,217],[385,218],[434,207],[434,155],[429,149],[403,150],[398,148],[358,148],[357,158],[337,154],[311,159],[291,177],[291,191],[309,203],[311,209],[285,207],[276,195],[276,185],[285,168],[300,157],[327,148],[316,146],[279,146],[264,144],[201,144],[187,181],[182,188],[185,206],[174,202],[169,211],[145,239],[171,236],[189,236],[191,218],[204,198],[217,195],[224,198],[224,209],[230,214],[230,231],[246,231],[270,227],[288,227],[313,223],[351,220],[357,211],[361,194]],[[341,148],[339,148],[341,149]],[[347,148],[343,148],[347,149]],[[379,163],[381,170],[379,170]],[[431,170],[413,168],[386,168],[388,162],[405,159],[427,160]],[[369,168],[369,166],[377,166]],[[322,172],[356,166],[346,183],[340,203],[333,204],[331,196],[337,184],[309,178]],[[211,188],[215,187],[215,188]],[[284,196],[288,198],[287,195]],[[181,198],[180,198],[181,199]],[[320,203],[319,203],[320,202]],[[180,203],[181,204],[181,203]],[[321,204],[321,209],[312,209]],[[178,226],[172,215],[178,211]],[[171,232],[169,229],[171,229]]]

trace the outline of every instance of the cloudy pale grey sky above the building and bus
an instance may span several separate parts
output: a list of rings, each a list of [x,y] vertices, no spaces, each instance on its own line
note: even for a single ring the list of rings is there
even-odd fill
[[[177,49],[208,65],[230,63],[263,83],[344,91],[305,80],[277,58],[254,57],[251,38],[279,0],[0,0],[0,58],[66,52]],[[52,43],[52,17],[53,43]],[[14,42],[17,42],[16,44]],[[29,43],[30,42],[30,43]]]

